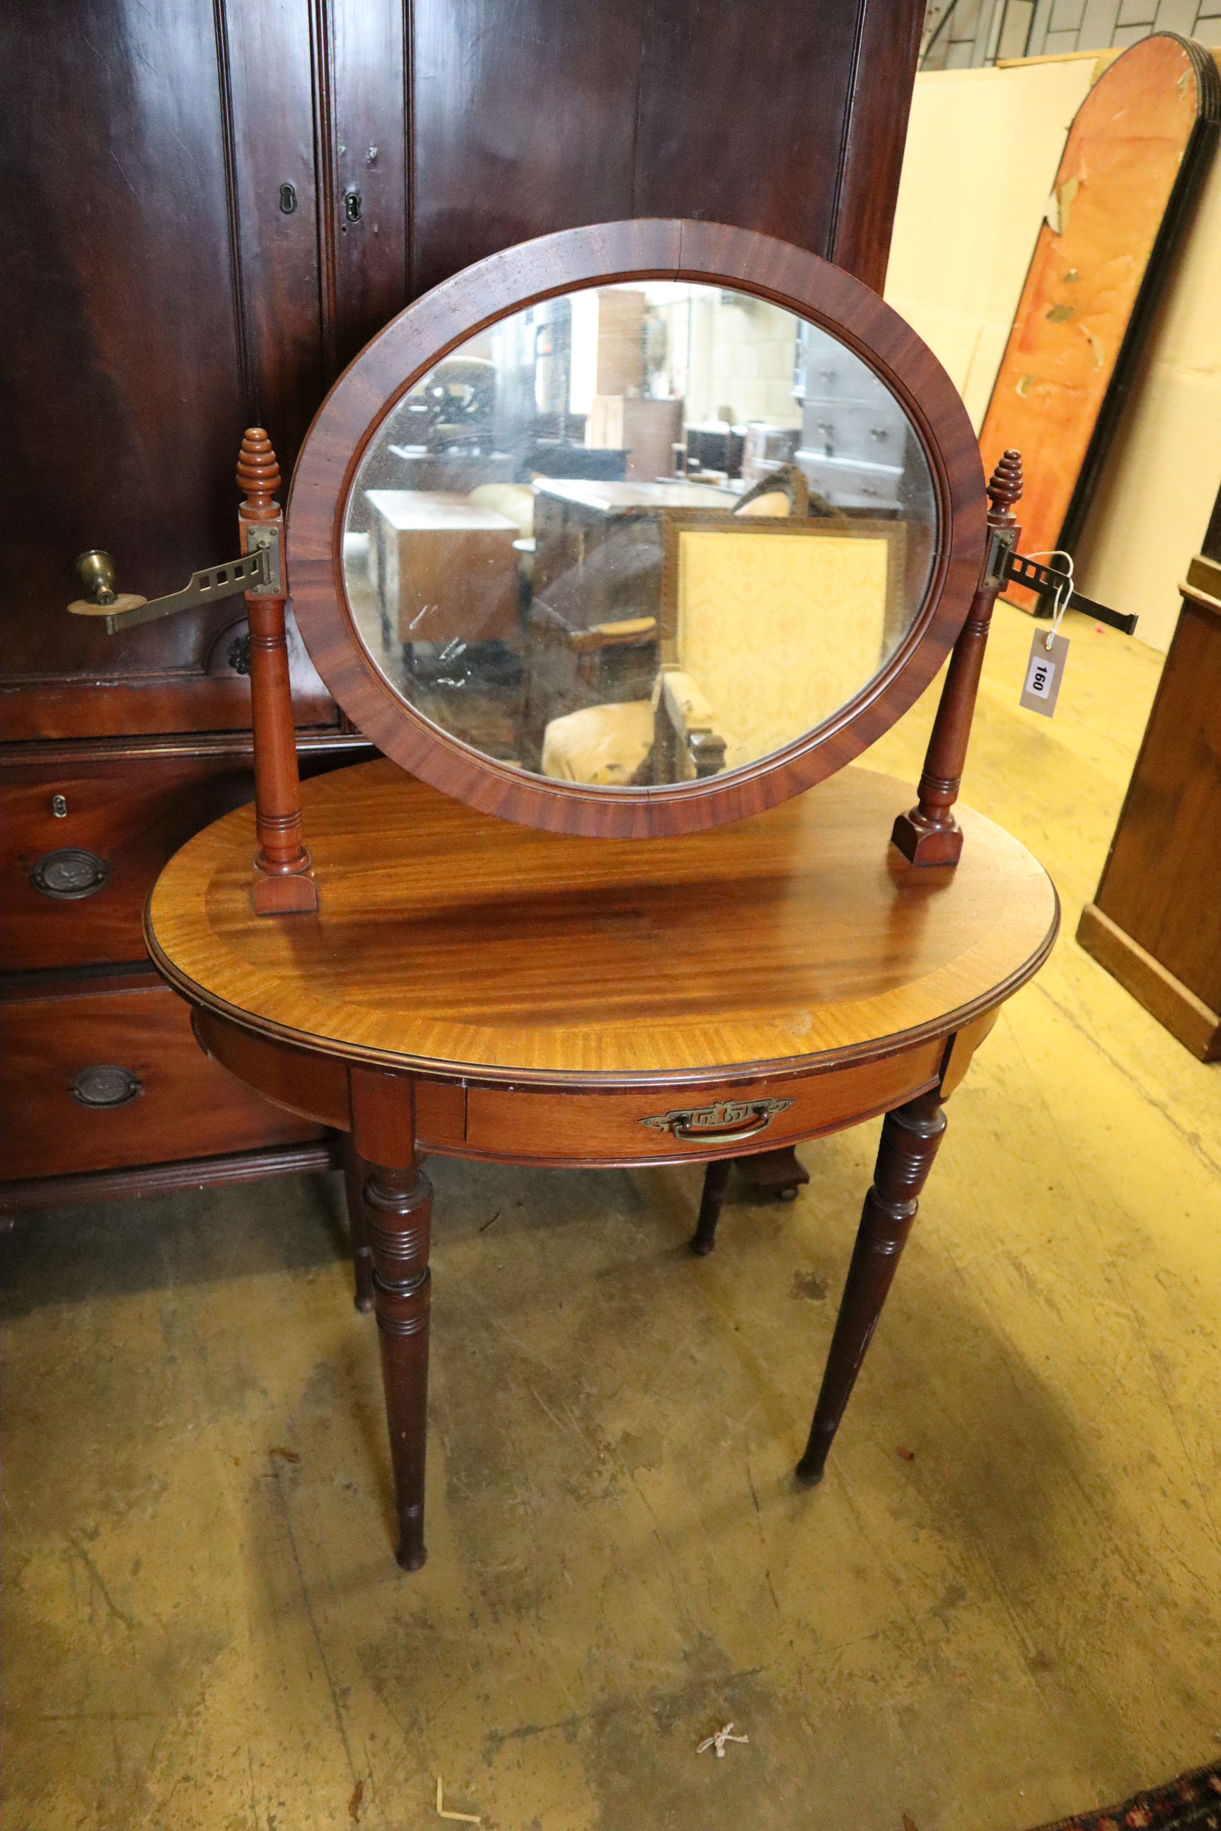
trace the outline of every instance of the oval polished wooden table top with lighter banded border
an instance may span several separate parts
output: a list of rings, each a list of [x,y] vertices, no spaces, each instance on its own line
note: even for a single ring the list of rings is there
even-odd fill
[[[361,764],[302,784],[317,914],[253,914],[240,807],[167,864],[146,937],[194,1003],[384,1067],[551,1086],[837,1067],[992,1009],[1056,934],[1043,868],[961,804],[957,868],[910,866],[890,828],[912,800],[849,767],[716,831],[578,839]]]

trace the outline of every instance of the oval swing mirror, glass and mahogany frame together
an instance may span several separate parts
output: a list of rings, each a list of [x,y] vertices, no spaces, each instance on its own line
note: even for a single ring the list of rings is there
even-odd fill
[[[383,751],[509,818],[674,833],[912,703],[978,580],[983,474],[864,286],[633,222],[401,313],[324,403],[287,525],[306,643]]]

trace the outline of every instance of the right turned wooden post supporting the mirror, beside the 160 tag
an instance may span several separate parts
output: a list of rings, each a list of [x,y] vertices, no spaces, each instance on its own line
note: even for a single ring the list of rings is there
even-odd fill
[[[967,743],[970,740],[970,721],[976,712],[976,694],[983,670],[983,654],[989,646],[989,628],[992,606],[1001,590],[1001,575],[996,536],[1003,536],[1003,546],[1018,542],[1020,527],[1012,515],[1012,505],[1021,496],[1021,454],[1007,450],[992,472],[989,483],[989,555],[983,579],[967,613],[967,623],[954,645],[950,668],[941,688],[937,718],[934,721],[924,771],[921,775],[919,802],[895,820],[891,840],[912,864],[957,864],[963,850],[963,831],[954,818],[954,802],[963,782],[967,762]]]

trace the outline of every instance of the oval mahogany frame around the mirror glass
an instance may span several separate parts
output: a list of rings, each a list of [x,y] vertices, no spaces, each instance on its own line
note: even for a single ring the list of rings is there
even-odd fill
[[[904,639],[844,707],[732,773],[657,787],[589,787],[527,775],[430,723],[379,674],[342,575],[344,518],[386,414],[458,344],[498,319],[584,286],[692,280],[732,287],[831,331],[891,390],[932,474],[932,573]],[[979,445],[932,350],[860,280],[805,249],[723,223],[632,220],[564,229],[463,269],[397,319],[339,377],[306,436],[287,505],[287,579],[313,665],[348,718],[410,775],[483,813],[560,833],[652,839],[762,813],[813,787],[888,731],[937,674],[985,558]]]

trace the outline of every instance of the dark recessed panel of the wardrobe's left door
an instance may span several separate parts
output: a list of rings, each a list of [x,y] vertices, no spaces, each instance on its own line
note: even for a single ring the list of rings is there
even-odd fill
[[[207,617],[106,637],[64,606],[84,547],[156,597],[234,546],[245,408],[212,0],[79,0],[70,18],[22,0],[4,81],[4,670],[192,666]]]

